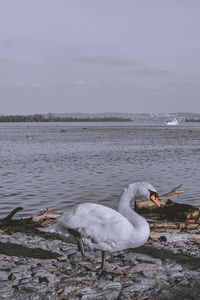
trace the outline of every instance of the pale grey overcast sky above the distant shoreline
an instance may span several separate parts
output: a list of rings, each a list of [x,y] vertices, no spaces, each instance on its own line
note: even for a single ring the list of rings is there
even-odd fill
[[[199,0],[0,0],[0,115],[200,113]]]

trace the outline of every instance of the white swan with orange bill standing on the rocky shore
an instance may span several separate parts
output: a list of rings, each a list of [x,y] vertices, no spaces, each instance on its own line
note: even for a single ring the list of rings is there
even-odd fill
[[[150,229],[147,221],[130,206],[136,194],[143,195],[160,206],[158,193],[150,183],[135,182],[129,184],[122,193],[118,212],[101,204],[78,204],[59,217],[54,225],[41,230],[62,236],[72,234],[83,256],[85,256],[84,245],[91,250],[101,250],[102,260],[99,269],[103,270],[106,252],[137,248],[149,238]]]

